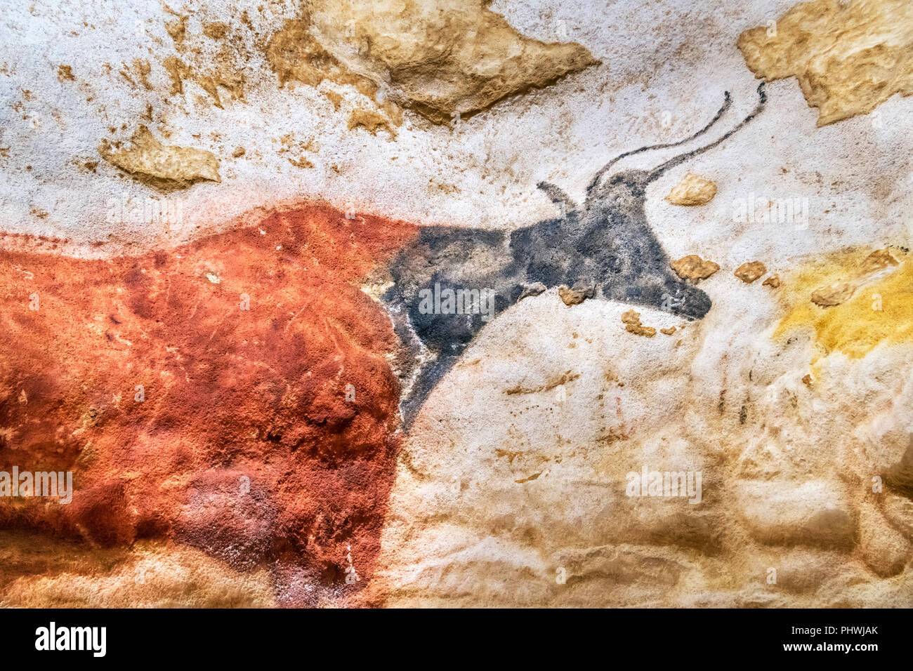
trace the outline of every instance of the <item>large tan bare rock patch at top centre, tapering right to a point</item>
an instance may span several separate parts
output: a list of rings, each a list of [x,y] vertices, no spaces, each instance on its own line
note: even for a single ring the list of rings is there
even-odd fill
[[[310,4],[324,47],[392,97],[448,124],[545,87],[597,61],[579,44],[520,35],[484,0],[335,0]]]

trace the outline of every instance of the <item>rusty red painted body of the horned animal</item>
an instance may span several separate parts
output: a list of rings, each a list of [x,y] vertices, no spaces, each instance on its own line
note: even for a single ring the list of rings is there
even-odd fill
[[[0,252],[0,467],[74,480],[0,498],[0,528],[173,540],[269,566],[278,603],[359,603],[400,391],[359,282],[414,235],[313,205],[142,257]]]

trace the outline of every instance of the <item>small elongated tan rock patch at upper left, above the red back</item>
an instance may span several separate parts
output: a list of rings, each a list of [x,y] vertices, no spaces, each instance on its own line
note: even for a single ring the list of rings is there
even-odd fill
[[[197,182],[221,182],[219,162],[211,152],[164,145],[146,126],[133,133],[129,146],[102,140],[101,157],[130,176],[163,192],[186,189]]]

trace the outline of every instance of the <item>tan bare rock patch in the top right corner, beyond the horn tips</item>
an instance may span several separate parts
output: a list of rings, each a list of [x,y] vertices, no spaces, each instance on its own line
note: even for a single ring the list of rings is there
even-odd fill
[[[913,93],[913,3],[813,0],[739,37],[755,76],[799,80],[824,126],[866,114],[895,93]]]

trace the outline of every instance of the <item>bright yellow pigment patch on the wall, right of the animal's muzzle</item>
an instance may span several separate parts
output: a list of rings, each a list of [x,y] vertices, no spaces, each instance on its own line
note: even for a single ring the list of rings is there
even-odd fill
[[[913,261],[897,247],[890,254],[900,262],[865,278],[853,295],[840,305],[822,308],[812,302],[812,292],[839,281],[857,281],[870,250],[853,250],[830,257],[824,264],[809,265],[783,281],[784,302],[790,306],[773,337],[782,340],[796,329],[814,330],[822,356],[835,351],[861,359],[881,343],[913,341]],[[880,309],[879,309],[880,308]]]

